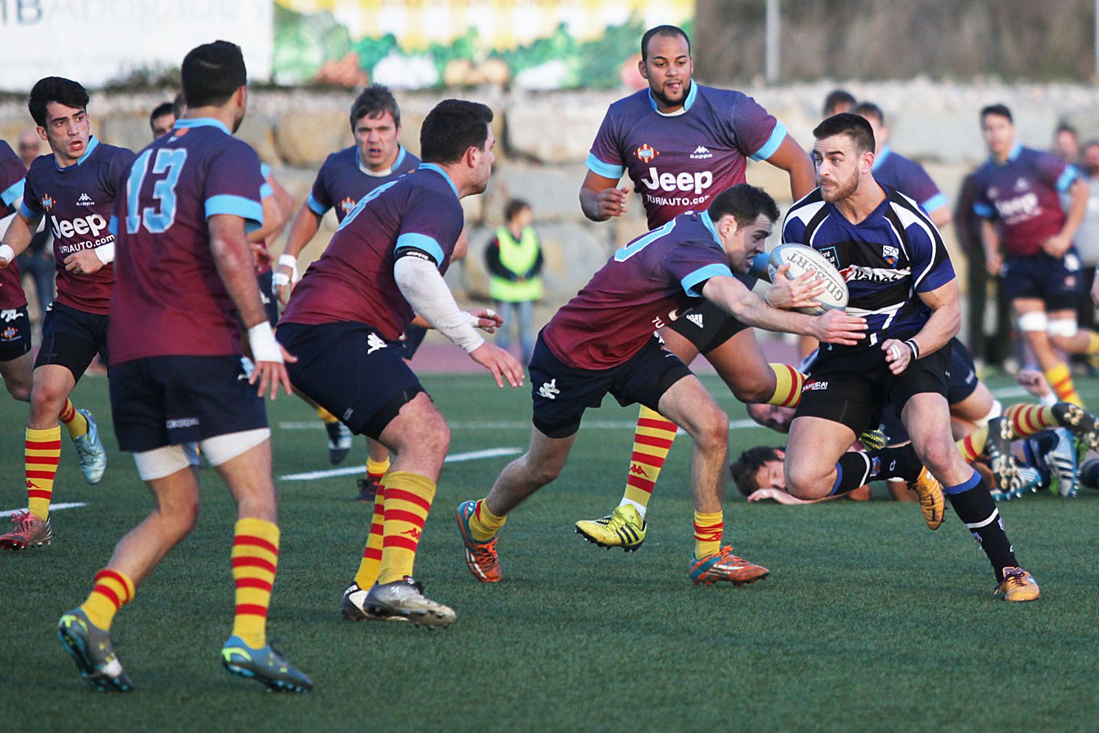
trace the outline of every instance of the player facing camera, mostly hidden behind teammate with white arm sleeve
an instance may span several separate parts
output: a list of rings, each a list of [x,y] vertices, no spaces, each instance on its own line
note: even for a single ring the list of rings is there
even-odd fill
[[[398,142],[401,110],[387,87],[373,85],[355,98],[351,105],[351,131],[355,144],[324,160],[309,198],[301,204],[290,226],[274,280],[275,292],[284,303],[298,277],[298,256],[317,235],[325,212],[335,208],[336,221],[342,222],[364,196],[412,173],[420,165],[420,158]],[[409,327],[401,343],[406,358],[412,358],[425,333],[420,326]],[[329,459],[337,464],[351,448],[351,432],[328,410],[318,408],[317,414],[329,432]],[[389,469],[390,462],[389,452],[376,441],[367,438],[367,448],[366,478],[359,479],[359,496],[356,498],[373,502],[378,482]]]

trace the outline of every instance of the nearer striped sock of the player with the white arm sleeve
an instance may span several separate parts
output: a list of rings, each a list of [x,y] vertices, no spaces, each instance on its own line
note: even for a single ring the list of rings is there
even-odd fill
[[[435,482],[426,476],[406,470],[391,470],[386,475],[380,585],[412,575],[423,523],[434,498]]]

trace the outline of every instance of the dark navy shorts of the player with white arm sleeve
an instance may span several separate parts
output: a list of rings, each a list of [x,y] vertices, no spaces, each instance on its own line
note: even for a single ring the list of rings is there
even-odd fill
[[[423,392],[404,364],[400,342],[365,323],[282,323],[276,334],[298,357],[287,364],[293,388],[375,440],[400,409]]]

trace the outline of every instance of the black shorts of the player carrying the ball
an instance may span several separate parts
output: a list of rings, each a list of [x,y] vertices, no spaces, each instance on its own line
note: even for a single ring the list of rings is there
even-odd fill
[[[812,376],[806,378],[795,419],[824,418],[858,435],[878,426],[886,404],[897,406],[899,412],[913,395],[934,392],[946,397],[950,349],[940,348],[917,359],[897,376],[889,371],[885,354],[877,348],[866,349],[866,368],[862,370],[830,370],[825,354],[822,352],[813,363]],[[850,363],[850,356],[844,360]]]

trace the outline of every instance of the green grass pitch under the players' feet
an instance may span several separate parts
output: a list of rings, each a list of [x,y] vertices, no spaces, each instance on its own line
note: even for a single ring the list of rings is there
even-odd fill
[[[455,424],[452,453],[525,447],[528,388],[497,390],[487,376],[424,381]],[[707,381],[742,419],[728,390]],[[1081,387],[1099,404],[1099,387]],[[444,631],[344,622],[340,596],[357,567],[369,508],[352,501],[354,477],[278,480],[282,547],[270,633],[312,676],[308,696],[274,697],[220,669],[235,517],[204,469],[199,527],[114,622],[137,690],[97,693],[54,625],[82,601],[149,500],[132,459],[115,449],[107,380],[85,379],[74,399],[100,417],[111,463],[102,484],[85,485],[66,438],[54,499],[87,506],[55,512],[53,546],[0,557],[0,678],[13,730],[1099,726],[1099,492],[1001,504],[1021,560],[1042,585],[1035,603],[992,597],[988,563],[951,513],[928,532],[915,504],[877,489],[869,502],[780,507],[750,506],[731,486],[726,541],[771,576],[745,588],[696,588],[686,574],[689,438],[671,452],[641,552],[599,549],[573,533],[575,520],[607,513],[620,497],[636,411],[610,398],[588,413],[558,481],[511,515],[500,540],[504,582],[482,586],[466,570],[453,512],[484,496],[509,458],[446,467],[417,563],[428,595],[457,610]],[[14,509],[25,502],[25,411],[0,403],[0,509]],[[329,468],[323,432],[279,427],[314,420],[303,403],[280,397],[268,414],[277,477]],[[731,451],[777,442],[742,429]],[[345,465],[360,457],[357,440]]]

